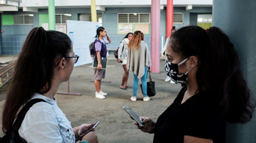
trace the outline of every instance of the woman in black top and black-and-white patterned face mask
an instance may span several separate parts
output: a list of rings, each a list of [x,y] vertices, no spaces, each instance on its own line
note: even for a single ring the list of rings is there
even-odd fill
[[[157,119],[141,117],[154,143],[224,143],[226,122],[246,123],[255,101],[242,76],[238,54],[219,28],[187,26],[166,49],[165,70],[175,83],[187,83]],[[250,101],[253,101],[250,102]]]

